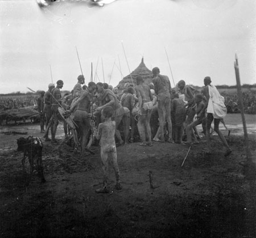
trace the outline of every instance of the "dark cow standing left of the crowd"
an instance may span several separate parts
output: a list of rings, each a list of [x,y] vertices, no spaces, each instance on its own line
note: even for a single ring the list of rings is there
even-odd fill
[[[46,182],[43,175],[43,164],[42,164],[42,151],[43,143],[40,138],[32,137],[31,135],[27,138],[20,137],[17,139],[18,148],[17,151],[23,152],[22,168],[25,171],[24,163],[26,156],[30,162],[30,175],[32,175],[34,162],[36,162],[36,170],[41,178],[42,182]]]

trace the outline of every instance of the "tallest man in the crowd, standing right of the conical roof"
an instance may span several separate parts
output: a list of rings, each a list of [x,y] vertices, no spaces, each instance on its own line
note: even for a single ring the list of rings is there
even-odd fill
[[[152,74],[153,74],[152,81],[155,85],[155,93],[158,96],[160,141],[164,142],[164,122],[167,121],[168,135],[169,135],[169,139],[167,142],[174,143],[174,140],[172,139],[172,121],[171,121],[171,99],[172,99],[171,83],[168,76],[160,75],[160,70],[158,67],[154,67],[152,69]],[[166,118],[164,117],[164,114],[166,114]],[[159,141],[159,140],[156,140],[156,141]]]

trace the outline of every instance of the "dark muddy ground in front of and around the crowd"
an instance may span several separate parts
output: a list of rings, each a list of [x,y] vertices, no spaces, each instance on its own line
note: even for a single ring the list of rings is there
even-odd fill
[[[228,125],[232,127],[230,123]],[[255,126],[255,125],[254,125]],[[240,128],[241,129],[241,128]],[[27,132],[42,137],[39,125],[1,128],[1,237],[256,237],[255,134],[249,133],[252,162],[243,135],[223,131],[233,153],[212,135],[211,155],[203,155],[205,139],[192,146],[154,142],[120,146],[118,164],[122,190],[115,190],[111,170],[109,194],[96,194],[102,168],[100,147],[95,155],[73,154],[63,141],[44,142],[47,182],[22,171],[16,139]],[[10,133],[4,134],[3,132]],[[152,171],[155,189],[150,188]]]

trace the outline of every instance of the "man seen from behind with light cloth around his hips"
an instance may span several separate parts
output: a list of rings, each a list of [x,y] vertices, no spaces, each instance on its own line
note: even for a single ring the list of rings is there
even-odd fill
[[[142,143],[140,146],[152,146],[151,141],[151,128],[150,128],[150,117],[153,109],[153,96],[150,92],[150,87],[146,84],[143,84],[142,76],[137,76],[136,78],[137,86],[135,87],[135,91],[139,100],[139,120],[138,120],[138,131],[139,136],[142,139]],[[148,143],[146,143],[146,132]]]

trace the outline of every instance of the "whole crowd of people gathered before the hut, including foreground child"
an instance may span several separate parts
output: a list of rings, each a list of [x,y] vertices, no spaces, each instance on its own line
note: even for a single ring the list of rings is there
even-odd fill
[[[191,146],[199,143],[196,126],[202,124],[207,139],[204,152],[210,153],[210,129],[214,122],[214,131],[226,147],[225,156],[232,152],[218,128],[227,112],[224,97],[211,84],[209,76],[204,78],[201,92],[187,85],[184,80],[180,80],[172,89],[168,76],[160,74],[158,67],[152,69],[150,85],[144,83],[142,76],[137,76],[135,82],[126,83],[121,92],[107,83],[89,82],[88,86],[84,83],[84,76],[79,75],[72,91],[64,96],[61,96],[60,91],[64,86],[63,80],[58,80],[56,87],[50,83],[48,91],[40,92],[37,104],[40,129],[45,141],[57,142],[55,135],[60,120],[64,122],[65,136],[71,131],[76,145],[81,145],[82,155],[91,145],[91,139],[100,141],[104,186],[96,192],[108,192],[108,159],[112,161],[115,171],[116,188],[121,189],[116,146],[132,143],[135,128],[141,139],[140,146],[152,146],[155,142]],[[158,118],[158,129],[154,134],[152,114]],[[123,137],[119,132],[121,122]],[[187,136],[186,141],[183,139],[184,134]]]

